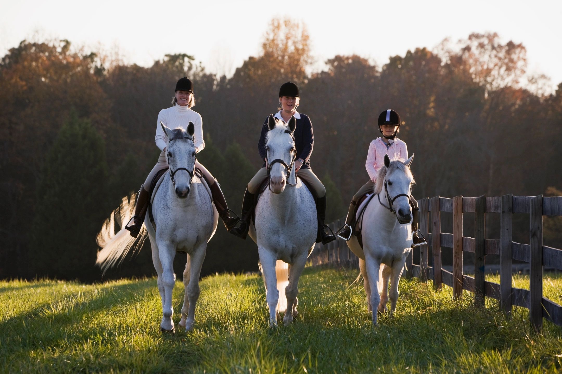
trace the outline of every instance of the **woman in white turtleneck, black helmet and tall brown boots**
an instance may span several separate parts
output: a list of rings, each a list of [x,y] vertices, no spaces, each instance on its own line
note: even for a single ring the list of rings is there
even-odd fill
[[[152,168],[151,172],[148,174],[146,181],[140,186],[139,193],[137,195],[137,205],[135,206],[135,214],[132,218],[133,223],[125,226],[131,232],[131,236],[137,237],[144,222],[144,216],[146,215],[146,208],[148,205],[148,189],[150,188],[150,183],[152,179],[158,172],[158,170],[167,169],[168,162],[166,159],[166,144],[167,137],[162,126],[160,126],[160,121],[164,123],[169,128],[182,127],[187,130],[187,125],[189,121],[193,122],[195,125],[195,133],[193,134],[195,151],[199,153],[205,148],[205,140],[203,140],[203,120],[201,115],[194,112],[191,108],[195,105],[195,99],[193,98],[193,82],[187,77],[183,77],[178,81],[175,88],[174,99],[172,100],[172,106],[170,108],[160,110],[158,113],[158,121],[156,122],[156,136],[154,140],[158,148],[162,150],[160,157],[156,165]],[[216,210],[219,212],[220,218],[223,220],[226,230],[229,230],[237,223],[238,217],[231,217],[226,205],[226,200],[223,195],[223,191],[220,190],[219,183],[216,179],[209,173],[199,161],[195,162],[195,167],[201,169],[203,176],[207,179],[210,184],[212,200],[215,203]]]

